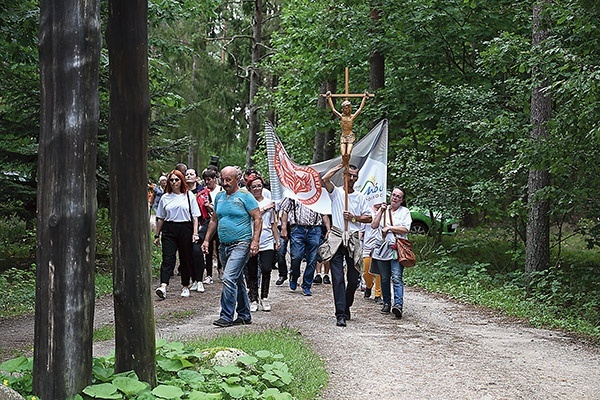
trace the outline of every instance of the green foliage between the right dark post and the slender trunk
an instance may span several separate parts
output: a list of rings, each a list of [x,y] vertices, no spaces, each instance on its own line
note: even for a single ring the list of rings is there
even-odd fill
[[[247,83],[239,75],[250,52],[235,36],[250,19],[236,3],[155,1],[150,8],[150,176],[184,161],[202,171],[211,155],[244,165]],[[227,35],[223,40],[218,36]],[[224,48],[223,46],[227,46]],[[227,54],[226,58],[223,56]]]

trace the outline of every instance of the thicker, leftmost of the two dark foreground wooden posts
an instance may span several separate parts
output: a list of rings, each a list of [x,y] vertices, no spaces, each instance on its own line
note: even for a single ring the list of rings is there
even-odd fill
[[[40,2],[41,110],[33,391],[92,379],[100,2]]]

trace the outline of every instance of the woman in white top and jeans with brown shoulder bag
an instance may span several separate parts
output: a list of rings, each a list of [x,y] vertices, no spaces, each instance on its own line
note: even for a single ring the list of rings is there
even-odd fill
[[[373,247],[372,263],[376,263],[381,276],[381,294],[383,297],[382,313],[390,311],[396,318],[402,318],[402,307],[404,304],[404,282],[402,274],[404,267],[398,262],[398,253],[394,251],[396,237],[406,238],[410,231],[412,218],[410,211],[404,206],[404,190],[395,187],[390,196],[390,205],[380,204],[373,213],[371,228],[377,229],[380,235]],[[390,291],[390,281],[394,288],[394,304]]]

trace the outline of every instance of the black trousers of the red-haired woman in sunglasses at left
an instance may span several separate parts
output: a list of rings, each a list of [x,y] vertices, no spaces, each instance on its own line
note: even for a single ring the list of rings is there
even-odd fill
[[[171,272],[175,269],[176,254],[179,252],[179,272],[181,284],[188,286],[193,274],[192,221],[165,221],[162,227],[162,263],[160,265],[160,283],[169,284]]]

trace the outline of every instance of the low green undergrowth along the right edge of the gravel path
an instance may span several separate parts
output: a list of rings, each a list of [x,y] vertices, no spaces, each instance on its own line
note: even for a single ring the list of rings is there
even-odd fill
[[[583,241],[567,242],[568,263],[526,276],[518,267],[522,250],[502,230],[444,236],[424,254],[426,240],[414,238],[419,263],[406,270],[407,284],[600,340],[600,251],[586,250]]]

